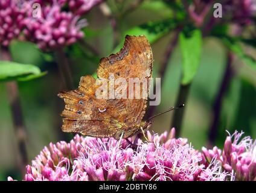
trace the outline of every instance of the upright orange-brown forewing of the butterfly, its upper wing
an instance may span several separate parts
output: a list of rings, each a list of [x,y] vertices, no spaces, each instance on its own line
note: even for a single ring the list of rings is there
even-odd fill
[[[115,75],[115,78],[146,78],[149,80],[152,77],[153,55],[150,44],[145,36],[126,36],[124,47],[117,54],[112,54],[100,61],[100,66],[97,71],[99,78],[108,78],[110,73]],[[147,81],[149,83],[149,81]],[[129,90],[127,88],[127,90]],[[140,92],[142,93],[142,86]],[[147,95],[149,93],[149,85],[147,85]],[[129,95],[129,93],[127,93]],[[126,106],[127,118],[121,120],[128,127],[135,124],[140,124],[147,107],[147,98],[141,99],[122,99]]]

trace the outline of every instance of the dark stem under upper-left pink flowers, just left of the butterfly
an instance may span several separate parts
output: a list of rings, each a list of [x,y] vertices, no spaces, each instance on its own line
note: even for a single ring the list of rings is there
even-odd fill
[[[64,87],[65,89],[71,90],[73,89],[73,81],[65,52],[63,51],[63,49],[56,49],[55,54]]]

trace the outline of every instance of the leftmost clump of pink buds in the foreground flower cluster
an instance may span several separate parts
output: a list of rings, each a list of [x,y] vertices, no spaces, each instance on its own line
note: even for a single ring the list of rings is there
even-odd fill
[[[85,140],[76,135],[71,142],[57,142],[43,148],[32,164],[27,166],[25,181],[33,180],[77,180],[72,171],[72,162],[78,156]]]

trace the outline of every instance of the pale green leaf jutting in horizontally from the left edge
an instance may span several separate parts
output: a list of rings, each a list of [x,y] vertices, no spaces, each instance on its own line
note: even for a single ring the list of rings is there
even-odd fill
[[[34,65],[0,61],[0,81],[27,81],[42,77],[45,74],[46,72],[41,72],[40,69]]]

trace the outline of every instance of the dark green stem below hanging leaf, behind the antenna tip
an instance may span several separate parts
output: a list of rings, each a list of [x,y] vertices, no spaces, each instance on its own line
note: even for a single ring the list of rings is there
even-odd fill
[[[182,128],[182,120],[184,117],[184,112],[188,100],[188,95],[190,91],[191,84],[182,85],[179,87],[179,94],[178,94],[178,100],[176,102],[176,106],[179,106],[181,104],[185,104],[185,106],[182,109],[175,110],[173,114],[173,119],[171,120],[171,128],[175,128],[176,130],[176,136],[180,136],[181,134],[181,128]]]

